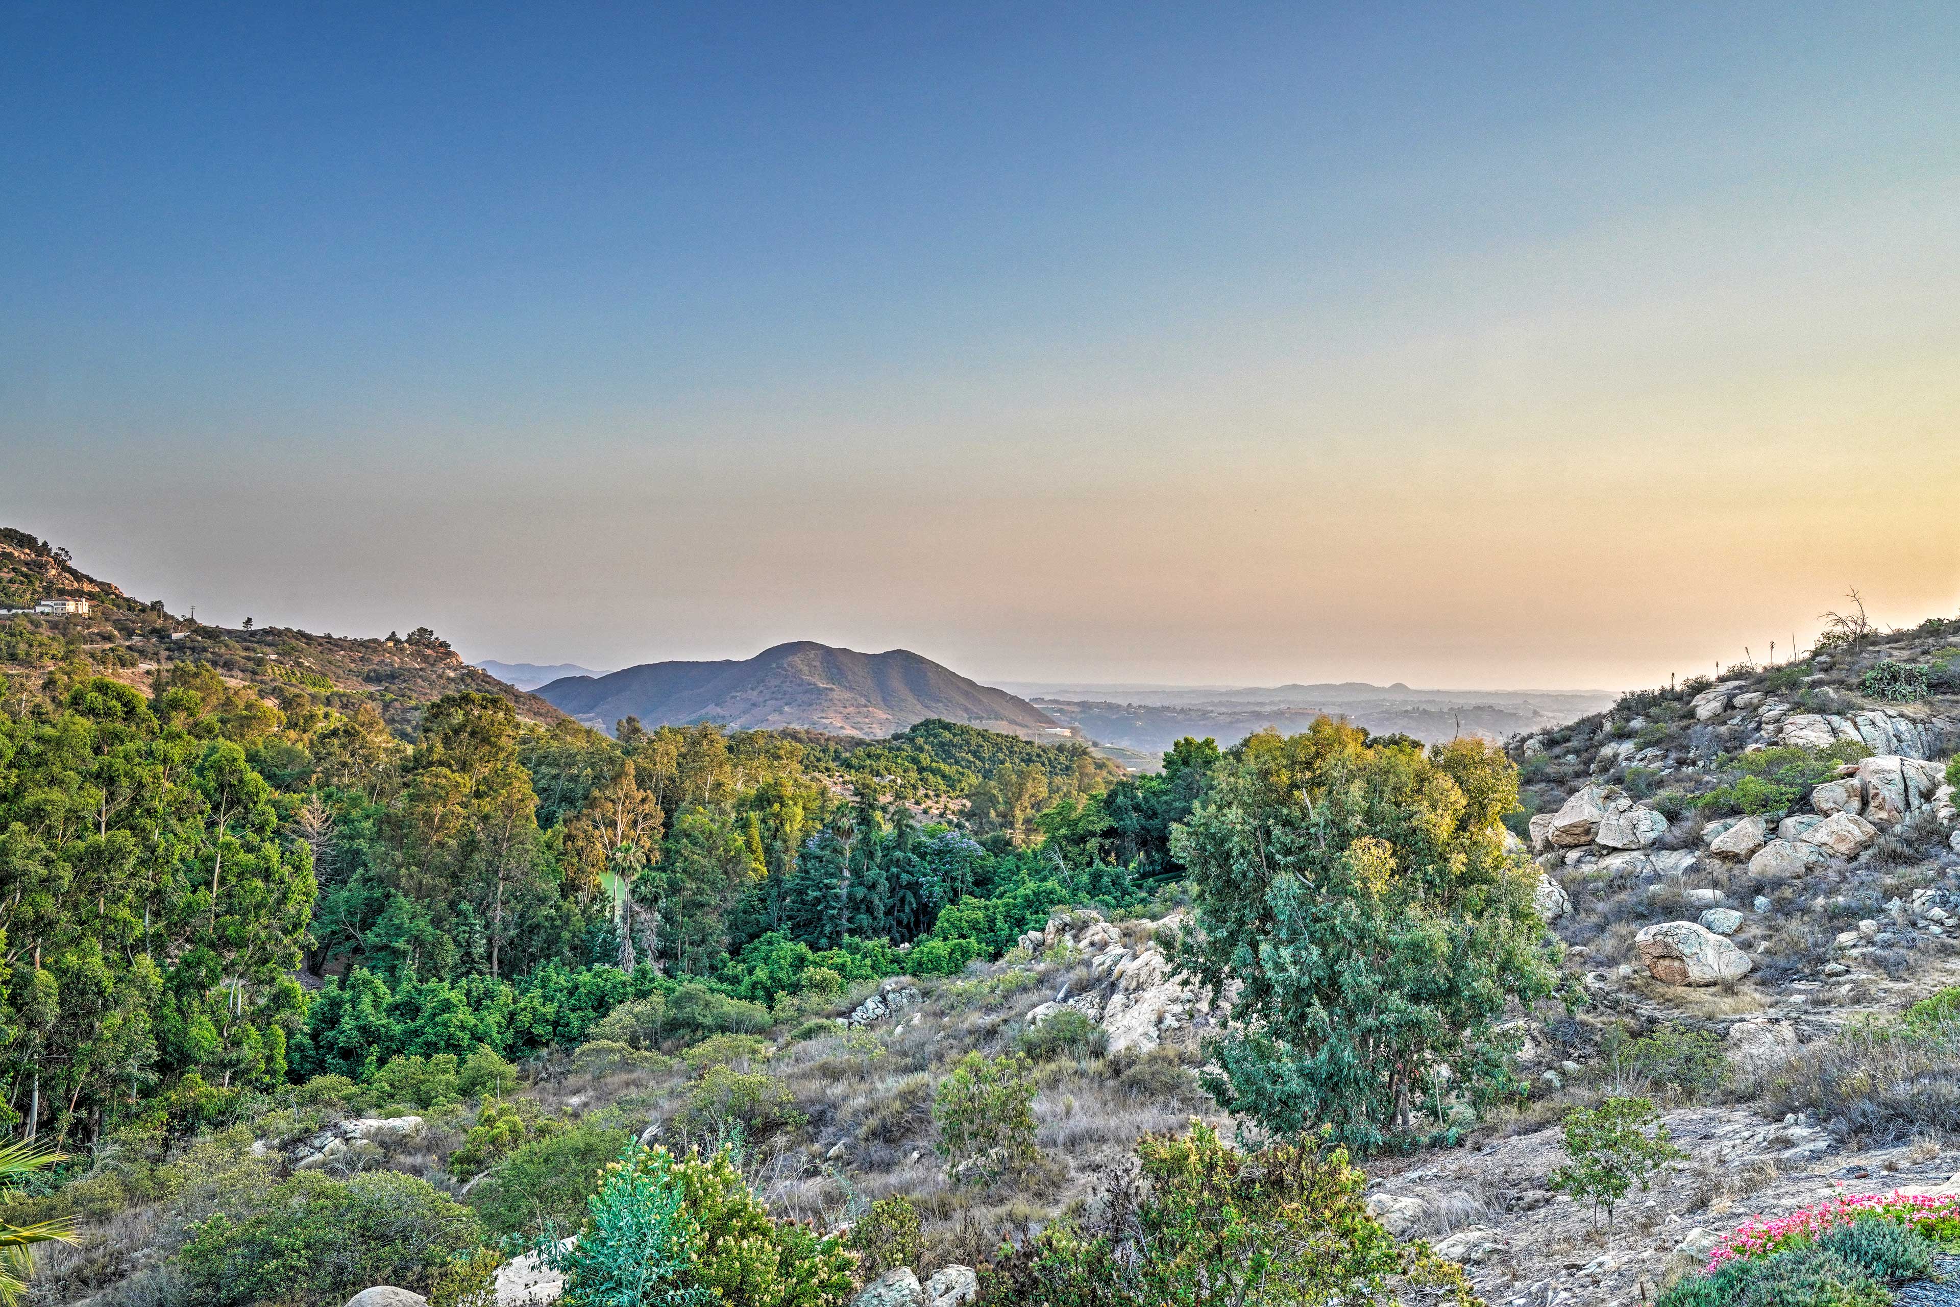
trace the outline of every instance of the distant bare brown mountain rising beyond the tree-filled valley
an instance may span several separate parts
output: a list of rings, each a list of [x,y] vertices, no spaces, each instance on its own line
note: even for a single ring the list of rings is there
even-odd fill
[[[566,676],[537,692],[572,717],[612,731],[715,721],[745,731],[808,729],[894,735],[929,717],[1009,735],[1056,723],[1027,700],[921,658],[906,649],[862,654],[796,641],[747,660],[647,662],[610,676]]]

